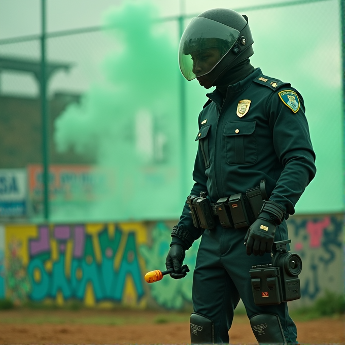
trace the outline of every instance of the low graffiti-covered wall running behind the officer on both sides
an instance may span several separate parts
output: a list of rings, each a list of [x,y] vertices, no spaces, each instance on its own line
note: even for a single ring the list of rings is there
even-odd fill
[[[186,253],[186,278],[155,284],[143,278],[164,270],[175,223],[0,226],[0,298],[181,309],[191,303],[198,240]],[[343,216],[294,216],[288,226],[291,250],[303,260],[302,298],[290,308],[311,304],[326,290],[342,293]]]

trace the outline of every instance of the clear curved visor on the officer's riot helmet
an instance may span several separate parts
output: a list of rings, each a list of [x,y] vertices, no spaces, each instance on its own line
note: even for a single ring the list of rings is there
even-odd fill
[[[209,73],[233,47],[239,31],[214,20],[195,17],[179,46],[179,65],[187,80]]]

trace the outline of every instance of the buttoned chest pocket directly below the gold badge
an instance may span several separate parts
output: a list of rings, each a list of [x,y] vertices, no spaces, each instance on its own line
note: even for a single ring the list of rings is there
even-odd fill
[[[228,164],[251,164],[257,160],[255,121],[225,124],[226,161]]]

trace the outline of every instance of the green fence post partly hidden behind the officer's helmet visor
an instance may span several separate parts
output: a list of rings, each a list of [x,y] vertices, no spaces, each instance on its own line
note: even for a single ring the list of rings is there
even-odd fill
[[[184,31],[184,0],[180,1],[181,15],[179,16],[179,38],[182,37]],[[182,197],[187,196],[187,179],[186,179],[186,167],[187,167],[187,148],[186,148],[186,84],[185,78],[180,74],[180,123],[181,123],[181,146],[180,146],[180,157],[181,157],[181,192]]]

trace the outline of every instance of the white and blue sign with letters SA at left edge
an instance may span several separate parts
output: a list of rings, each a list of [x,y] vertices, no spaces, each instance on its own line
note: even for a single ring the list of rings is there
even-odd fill
[[[0,169],[0,216],[24,216],[26,195],[26,170]]]

